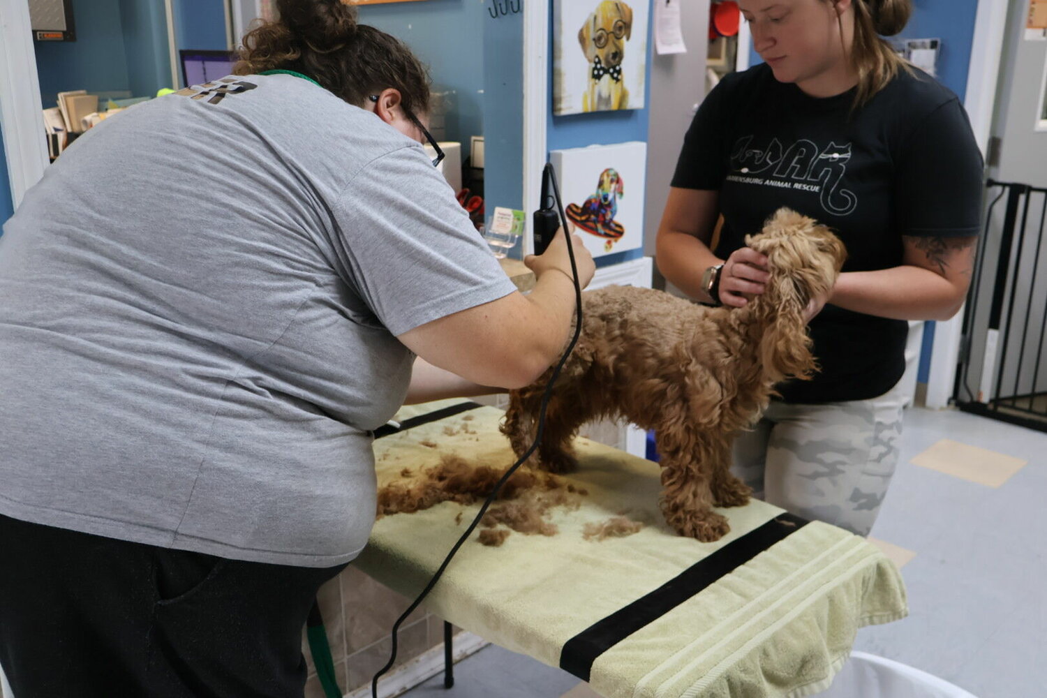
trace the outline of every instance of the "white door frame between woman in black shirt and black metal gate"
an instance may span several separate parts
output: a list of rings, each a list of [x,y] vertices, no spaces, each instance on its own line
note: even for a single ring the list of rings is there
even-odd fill
[[[993,110],[1000,81],[1000,57],[1003,53],[1004,30],[1007,25],[1007,0],[978,0],[978,13],[975,17],[975,36],[971,45],[963,107],[971,117],[971,128],[982,156],[988,154],[988,139],[993,130]],[[928,407],[945,407],[953,396],[962,325],[962,310],[953,319],[935,323],[931,373],[927,383]]]

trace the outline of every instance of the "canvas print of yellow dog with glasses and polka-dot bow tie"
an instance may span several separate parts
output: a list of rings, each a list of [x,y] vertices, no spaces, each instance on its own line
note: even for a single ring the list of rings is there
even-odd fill
[[[553,113],[642,109],[647,0],[555,0]]]

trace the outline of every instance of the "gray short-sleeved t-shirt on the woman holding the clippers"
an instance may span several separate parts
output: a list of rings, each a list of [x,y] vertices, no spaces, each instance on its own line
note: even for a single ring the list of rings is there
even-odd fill
[[[4,226],[0,514],[335,565],[396,335],[514,287],[417,142],[299,77],[222,85],[90,130]]]

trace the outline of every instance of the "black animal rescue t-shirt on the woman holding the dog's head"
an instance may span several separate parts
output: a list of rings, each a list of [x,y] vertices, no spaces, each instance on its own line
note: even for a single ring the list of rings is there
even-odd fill
[[[899,71],[857,110],[854,90],[816,98],[766,64],[727,75],[684,141],[672,185],[718,189],[721,258],[788,206],[847,247],[844,271],[901,264],[901,237],[977,235],[982,159],[959,99],[919,70]],[[832,305],[811,321],[821,370],[779,386],[796,403],[881,396],[905,371],[908,323]]]

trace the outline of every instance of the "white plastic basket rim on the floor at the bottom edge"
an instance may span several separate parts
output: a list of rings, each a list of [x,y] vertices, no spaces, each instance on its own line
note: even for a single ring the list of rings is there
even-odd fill
[[[865,652],[851,652],[828,691],[814,698],[975,698],[927,672]]]

